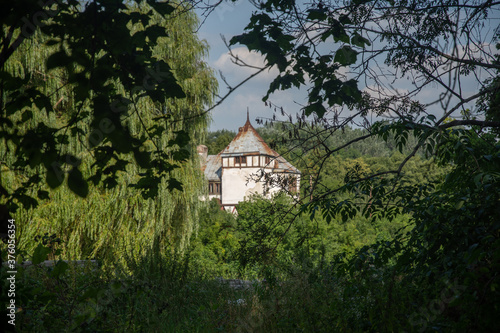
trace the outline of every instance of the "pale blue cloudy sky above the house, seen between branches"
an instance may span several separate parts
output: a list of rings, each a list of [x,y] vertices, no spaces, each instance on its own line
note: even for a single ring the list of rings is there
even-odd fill
[[[205,1],[218,2],[215,0]],[[221,79],[219,72],[222,73],[231,86],[235,86],[254,71],[250,68],[241,67],[232,63],[231,57],[228,54],[228,49],[221,37],[224,36],[229,42],[232,36],[243,33],[254,10],[255,7],[253,7],[249,1],[237,1],[236,3],[223,1],[208,16],[203,15],[204,13],[200,9],[197,10],[197,14],[202,21],[197,32],[198,37],[206,40],[210,46],[209,56],[206,60],[217,73],[220,96],[226,95],[228,88],[226,83]],[[498,18],[492,21],[490,19],[491,22],[488,22],[490,24],[486,24],[484,29],[487,31],[492,27],[497,27],[499,20]],[[491,33],[491,30],[489,33]],[[263,58],[257,53],[249,52],[246,46],[235,45],[232,46],[231,49],[234,54],[238,55],[238,57],[245,60],[247,63],[257,66],[263,64]],[[278,71],[276,69],[272,69],[269,72],[263,72],[232,92],[221,105],[215,107],[211,111],[212,123],[209,126],[209,130],[216,131],[228,129],[237,131],[238,127],[243,126],[246,121],[247,109],[250,113],[250,120],[255,127],[258,126],[255,121],[256,118],[266,119],[276,115],[278,119],[284,119],[280,112],[274,112],[273,107],[266,106],[262,101],[262,97],[266,95],[269,84],[277,74]],[[481,75],[481,73],[479,73],[479,75]],[[463,77],[461,79],[463,83],[462,88],[467,92],[465,95],[470,95],[478,91],[479,86],[476,79],[477,78],[474,78],[472,75],[469,78]],[[369,87],[369,83],[367,83],[367,86]],[[413,84],[411,80],[405,81],[405,79],[401,79],[396,83],[396,87],[398,90],[405,92],[411,90]],[[363,89],[367,91],[366,87]],[[301,104],[305,104],[307,97],[306,90],[307,88],[302,88],[302,90],[289,89],[275,92],[270,96],[269,101],[271,101],[273,105],[283,107],[287,114],[295,116],[300,112],[302,108]],[[429,103],[438,97],[439,92],[437,85],[430,86],[419,94],[419,100],[424,103]],[[374,91],[370,93],[376,94]],[[439,108],[439,105],[434,105],[430,107],[430,112],[434,113],[436,116],[440,116],[443,113],[443,109]]]

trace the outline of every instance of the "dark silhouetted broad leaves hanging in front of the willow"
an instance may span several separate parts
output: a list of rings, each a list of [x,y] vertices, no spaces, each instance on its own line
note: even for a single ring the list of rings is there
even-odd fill
[[[186,98],[172,61],[158,57],[156,47],[168,34],[155,15],[168,17],[176,6],[155,1],[142,9],[122,1],[2,4],[0,139],[16,153],[15,161],[2,162],[9,172],[24,176],[18,187],[2,184],[2,201],[11,211],[19,203],[36,205],[28,188],[42,179],[50,188],[66,182],[85,197],[88,180],[114,187],[117,174],[130,163],[148,170],[137,182],[146,195],[153,195],[163,178],[170,189],[181,189],[170,176],[187,159],[183,147],[189,132],[179,129],[166,146],[154,140],[181,119],[167,110],[165,121],[142,131],[125,121],[133,114],[142,117],[143,101],[159,107]],[[24,63],[20,52],[40,44]],[[49,124],[52,117],[58,121]],[[89,177],[80,170],[75,140],[94,159]],[[46,197],[38,192],[39,199]]]

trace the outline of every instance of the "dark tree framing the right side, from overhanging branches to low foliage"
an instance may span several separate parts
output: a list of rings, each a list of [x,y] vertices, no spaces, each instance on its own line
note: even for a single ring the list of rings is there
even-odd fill
[[[425,330],[429,321],[434,328],[498,326],[492,312],[500,306],[498,6],[468,0],[314,0],[304,5],[269,0],[259,3],[246,31],[230,41],[265,57],[259,71],[278,68],[266,103],[277,90],[308,90],[298,120],[287,126],[292,140],[315,152],[311,165],[318,173],[329,157],[373,136],[393,136],[404,153],[395,168],[353,168],[343,183],[326,189],[315,183],[310,202],[301,203],[304,212],[321,212],[330,220],[337,214],[345,219],[358,213],[412,216],[413,228],[392,242],[362,249],[339,268],[365,277],[364,283],[373,281],[370,274],[389,279],[371,286],[389,293],[380,299],[387,302],[386,314],[400,311],[390,302],[396,298],[394,285],[405,290],[400,299],[408,296],[417,304],[401,306],[406,324],[384,321],[383,315],[371,322],[372,328],[407,329],[408,320],[412,330]],[[425,98],[429,93],[432,99]],[[367,132],[346,143],[327,140],[348,124]],[[444,180],[400,182],[419,152],[449,168]],[[438,299],[454,279],[467,286],[453,302],[458,317],[448,309],[449,300],[440,316],[408,318],[418,306]]]

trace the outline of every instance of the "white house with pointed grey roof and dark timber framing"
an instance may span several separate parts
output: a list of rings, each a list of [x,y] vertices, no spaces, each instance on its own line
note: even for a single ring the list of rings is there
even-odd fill
[[[198,146],[202,169],[208,180],[209,199],[217,198],[225,210],[234,212],[238,202],[257,193],[269,197],[280,190],[298,192],[300,171],[269,148],[247,113],[238,134],[217,155]]]

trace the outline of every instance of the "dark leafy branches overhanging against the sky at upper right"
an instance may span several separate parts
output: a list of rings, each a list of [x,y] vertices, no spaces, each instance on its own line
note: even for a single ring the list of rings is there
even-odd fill
[[[347,187],[382,176],[387,185],[389,179],[401,176],[417,152],[438,154],[449,142],[451,129],[469,126],[485,137],[491,132],[488,129],[500,127],[492,120],[498,89],[494,82],[500,69],[493,49],[498,35],[495,29],[483,29],[485,20],[498,24],[493,20],[497,5],[491,1],[313,1],[301,7],[293,1],[270,0],[259,4],[246,32],[230,43],[260,52],[267,61],[265,68],[279,69],[263,98],[267,103],[277,90],[308,89],[302,117],[289,130],[292,140],[320,149],[319,172],[329,156],[361,140],[372,136],[388,140],[393,135],[403,152],[414,136],[414,146],[397,168],[353,178]],[[474,80],[479,88],[465,89],[465,80]],[[396,88],[404,84],[409,89]],[[432,87],[439,92],[435,99],[421,100],[419,93]],[[486,107],[472,108],[479,101]],[[378,119],[371,122],[371,115]],[[306,117],[313,116],[311,125]],[[350,123],[361,124],[368,132],[340,145],[327,140]],[[318,202],[345,189],[321,193]],[[380,199],[386,194],[382,191]],[[386,202],[380,202],[384,207]]]

